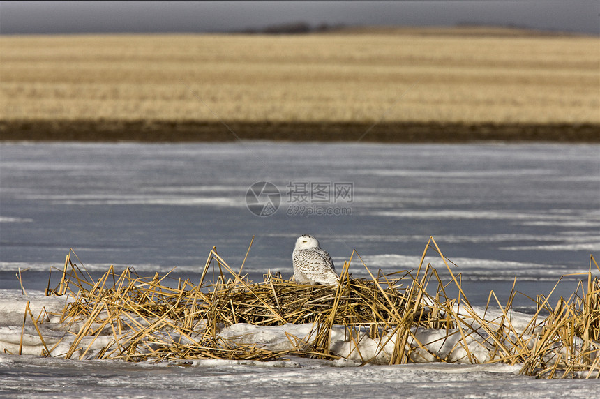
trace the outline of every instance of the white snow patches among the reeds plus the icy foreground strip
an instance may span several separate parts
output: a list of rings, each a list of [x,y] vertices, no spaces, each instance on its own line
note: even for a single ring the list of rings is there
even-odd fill
[[[418,363],[407,365],[360,366],[361,356],[375,356],[377,352],[382,360],[378,363],[384,363],[393,342],[384,351],[379,351],[377,340],[359,333],[359,337],[354,338],[361,342],[357,350],[342,327],[334,327],[331,333],[331,350],[344,356],[336,361],[297,356],[284,356],[269,362],[186,360],[127,363],[63,359],[61,354],[74,339],[68,333],[61,344],[63,347],[57,347],[53,352],[57,357],[40,356],[43,345],[33,324],[26,323],[22,330],[27,302],[37,317],[43,310],[59,312],[65,301],[64,296],[47,297],[40,292],[31,292],[27,296],[18,291],[0,292],[0,351],[8,349],[17,353],[19,347],[22,350],[21,356],[0,354],[0,396],[562,398],[568,395],[570,398],[596,398],[600,392],[600,380],[537,380],[520,375],[520,365],[469,364],[464,350],[456,349],[458,337],[428,345],[430,351],[456,363],[441,363],[423,356],[414,359]],[[528,315],[515,314],[513,324],[519,328],[528,319]],[[53,345],[65,335],[65,329],[57,321],[57,317],[50,317],[50,320],[39,324],[42,335],[48,338],[46,345]],[[220,335],[239,342],[256,342],[266,349],[285,350],[292,347],[288,335],[306,338],[311,327],[311,324],[234,324],[223,328]],[[443,335],[440,331],[423,329],[417,333],[417,338],[432,342]],[[102,347],[106,344],[105,340],[110,340],[110,336],[97,340],[92,347]],[[474,342],[471,349],[481,359],[486,357],[481,345]],[[455,352],[453,355],[452,350]],[[93,352],[89,352],[89,357]]]

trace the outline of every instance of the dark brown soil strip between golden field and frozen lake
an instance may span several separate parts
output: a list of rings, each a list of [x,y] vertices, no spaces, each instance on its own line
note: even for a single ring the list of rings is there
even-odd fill
[[[227,142],[600,142],[597,124],[387,122],[0,121],[0,141]],[[232,133],[233,132],[233,133]],[[365,134],[366,133],[366,134]]]

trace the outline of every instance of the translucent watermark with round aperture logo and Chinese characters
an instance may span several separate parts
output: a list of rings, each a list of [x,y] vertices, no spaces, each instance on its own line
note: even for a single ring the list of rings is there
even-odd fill
[[[254,183],[246,193],[246,206],[257,216],[271,216],[287,199],[289,216],[349,216],[354,197],[354,183],[338,181],[290,181],[285,197],[269,181]]]

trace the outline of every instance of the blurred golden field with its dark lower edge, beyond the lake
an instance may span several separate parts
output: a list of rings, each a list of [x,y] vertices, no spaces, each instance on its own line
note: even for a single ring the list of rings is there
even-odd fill
[[[241,133],[275,126],[251,138],[294,124],[339,136],[388,123],[512,126],[513,137],[518,126],[555,126],[594,141],[599,46],[594,36],[469,27],[1,36],[0,132],[60,138],[52,131],[72,126],[101,136],[138,123],[148,135],[207,138],[230,135],[222,120]]]

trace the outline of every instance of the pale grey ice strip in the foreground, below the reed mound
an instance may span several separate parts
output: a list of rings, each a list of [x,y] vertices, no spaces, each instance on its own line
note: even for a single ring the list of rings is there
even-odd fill
[[[0,354],[0,396],[27,398],[595,398],[591,380],[535,380],[504,365],[357,367],[292,358],[274,363],[125,363]]]

